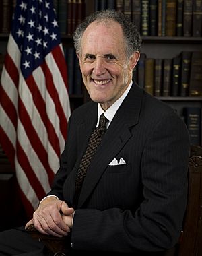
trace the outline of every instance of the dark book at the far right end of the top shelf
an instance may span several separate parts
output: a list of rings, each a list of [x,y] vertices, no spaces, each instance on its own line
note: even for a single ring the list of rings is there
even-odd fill
[[[193,1],[193,36],[202,36],[202,0]]]

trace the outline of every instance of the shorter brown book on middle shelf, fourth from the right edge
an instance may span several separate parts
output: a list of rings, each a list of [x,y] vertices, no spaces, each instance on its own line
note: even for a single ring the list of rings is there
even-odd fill
[[[164,97],[170,96],[171,70],[172,70],[172,59],[164,59],[163,85],[162,85],[162,96]]]

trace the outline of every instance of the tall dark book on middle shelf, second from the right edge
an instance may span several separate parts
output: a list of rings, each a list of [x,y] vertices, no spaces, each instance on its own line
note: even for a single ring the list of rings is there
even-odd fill
[[[189,75],[191,63],[191,51],[182,51],[180,96],[189,94]]]

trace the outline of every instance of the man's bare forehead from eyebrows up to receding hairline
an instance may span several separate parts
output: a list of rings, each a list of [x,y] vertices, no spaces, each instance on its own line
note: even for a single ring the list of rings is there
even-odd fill
[[[81,49],[83,53],[123,51],[125,46],[123,30],[117,22],[92,22],[83,33]]]

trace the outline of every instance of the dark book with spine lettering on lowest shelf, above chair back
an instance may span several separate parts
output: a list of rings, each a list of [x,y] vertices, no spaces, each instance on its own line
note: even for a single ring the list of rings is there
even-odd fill
[[[189,131],[190,143],[192,145],[201,145],[201,108],[185,107],[184,121]]]

